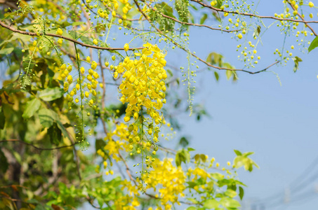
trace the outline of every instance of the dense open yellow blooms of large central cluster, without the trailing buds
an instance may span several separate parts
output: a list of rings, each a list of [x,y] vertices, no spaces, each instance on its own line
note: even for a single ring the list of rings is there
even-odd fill
[[[117,71],[114,72],[114,77],[117,78],[118,73],[124,73],[122,76],[121,102],[128,103],[126,109],[125,122],[131,120],[131,116],[138,118],[138,113],[141,106],[147,108],[147,113],[154,119],[154,123],[158,125],[163,118],[158,111],[162,104],[166,103],[164,92],[166,84],[164,80],[167,78],[164,66],[166,66],[165,55],[157,47],[147,43],[143,45],[145,48],[140,53],[135,53],[140,56],[140,59],[129,59],[126,57],[124,62],[119,63]]]

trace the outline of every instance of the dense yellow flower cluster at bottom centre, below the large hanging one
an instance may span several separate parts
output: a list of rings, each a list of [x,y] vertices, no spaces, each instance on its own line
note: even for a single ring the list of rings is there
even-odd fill
[[[161,205],[164,209],[171,209],[171,204],[178,202],[178,197],[184,197],[185,173],[181,167],[175,167],[172,164],[173,159],[164,159],[152,163],[153,171],[150,174],[144,174],[144,180],[147,183],[146,189],[153,188],[159,192]],[[170,202],[170,203],[169,203]]]

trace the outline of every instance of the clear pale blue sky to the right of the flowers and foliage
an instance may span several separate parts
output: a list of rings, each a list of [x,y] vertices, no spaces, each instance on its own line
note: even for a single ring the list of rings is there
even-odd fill
[[[281,13],[282,5],[281,1],[263,1],[258,12],[260,15]],[[227,62],[241,68],[243,63],[237,60],[239,53],[235,51],[239,43],[229,41],[230,36],[192,28],[190,48],[201,57],[206,57],[208,52],[220,52]],[[277,27],[267,31],[264,45],[258,48],[262,59],[257,69],[274,62],[276,57],[272,52],[281,48],[283,41],[284,36]],[[291,45],[297,45],[294,36],[286,39],[286,48]],[[186,120],[183,116],[183,129],[192,136],[191,146],[198,153],[215,157],[221,165],[229,158],[233,160],[234,149],[255,152],[252,158],[260,169],[252,173],[239,170],[239,179],[249,186],[244,210],[317,209],[318,206],[318,161],[312,164],[318,160],[318,49],[310,54],[293,52],[303,59],[297,73],[293,73],[293,62],[269,69],[279,74],[281,86],[274,73],[239,73],[237,83],[227,81],[225,72],[220,73],[218,83],[212,71],[198,73],[198,93],[194,100],[204,103],[212,118],[197,123],[194,118]],[[255,205],[267,197],[271,198],[263,202],[265,206]],[[289,203],[284,203],[286,198]]]

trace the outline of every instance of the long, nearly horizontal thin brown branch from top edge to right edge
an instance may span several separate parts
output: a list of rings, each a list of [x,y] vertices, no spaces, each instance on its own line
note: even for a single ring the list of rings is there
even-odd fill
[[[215,8],[213,6],[209,6],[209,5],[205,4],[205,3],[202,3],[199,0],[190,0],[190,1],[199,3],[201,6],[204,6],[206,8],[210,8],[211,10],[216,10],[216,11],[221,12],[221,13],[229,13],[229,14],[232,13],[232,14],[250,16],[250,17],[255,17],[255,18],[274,19],[274,20],[281,20],[281,21],[286,20],[286,21],[291,21],[291,22],[318,23],[318,21],[305,21],[305,20],[295,20],[295,19],[286,19],[286,18],[276,18],[274,16],[262,16],[262,15],[255,15],[255,14],[252,14],[252,13],[240,13],[240,12],[237,12],[237,11],[221,10],[219,8]]]

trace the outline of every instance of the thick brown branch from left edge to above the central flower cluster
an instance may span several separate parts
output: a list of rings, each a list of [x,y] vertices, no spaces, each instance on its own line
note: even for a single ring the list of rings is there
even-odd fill
[[[88,45],[86,43],[82,43],[80,41],[77,41],[73,38],[68,38],[68,37],[65,37],[65,36],[61,36],[61,35],[58,35],[58,34],[44,34],[44,33],[41,33],[41,34],[37,34],[37,33],[34,33],[34,32],[28,32],[28,31],[21,31],[21,30],[18,30],[18,29],[15,29],[11,26],[8,26],[8,25],[5,25],[4,22],[2,22],[0,20],[0,25],[1,27],[4,27],[6,29],[9,29],[15,33],[19,33],[19,34],[25,34],[25,35],[28,35],[28,36],[53,36],[53,37],[58,37],[58,38],[63,38],[67,41],[72,41],[73,43],[77,43],[79,45],[82,45],[83,47],[86,47],[86,48],[95,48],[95,49],[98,49],[98,50],[124,50],[124,48],[102,48],[102,47],[99,47],[99,46],[95,46],[95,45]],[[128,50],[141,50],[143,48],[129,48]]]

